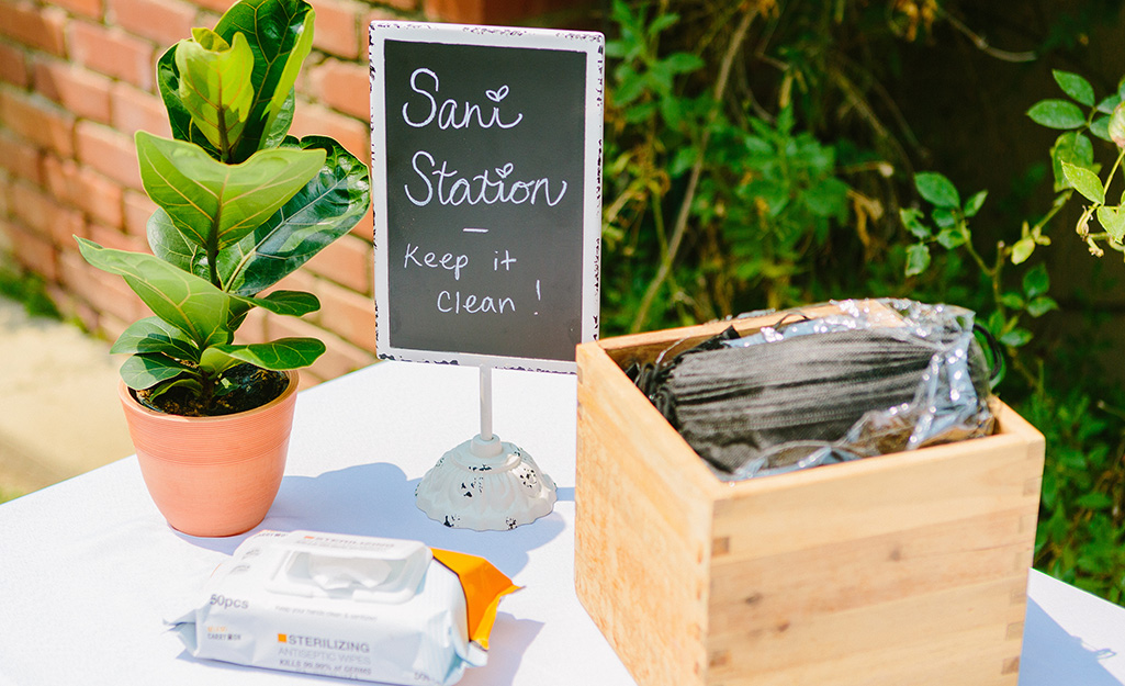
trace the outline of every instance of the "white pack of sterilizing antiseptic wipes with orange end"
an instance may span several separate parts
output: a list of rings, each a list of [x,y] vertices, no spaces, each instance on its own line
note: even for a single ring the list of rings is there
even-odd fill
[[[513,590],[486,560],[417,541],[263,531],[172,624],[200,658],[448,685],[485,664],[496,606]]]

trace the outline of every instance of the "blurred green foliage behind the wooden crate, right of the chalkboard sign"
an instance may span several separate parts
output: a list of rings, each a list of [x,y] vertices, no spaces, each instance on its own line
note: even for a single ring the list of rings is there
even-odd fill
[[[603,28],[603,335],[846,297],[975,310],[1047,439],[1035,567],[1123,602],[1125,265],[1076,235],[1061,168],[1119,159],[1123,2],[615,0]]]

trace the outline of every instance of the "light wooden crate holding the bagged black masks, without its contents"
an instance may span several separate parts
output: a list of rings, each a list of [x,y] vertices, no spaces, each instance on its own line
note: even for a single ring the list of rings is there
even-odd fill
[[[637,682],[1015,686],[1043,436],[1004,406],[992,436],[724,484],[622,368],[726,326],[578,346],[575,583]]]

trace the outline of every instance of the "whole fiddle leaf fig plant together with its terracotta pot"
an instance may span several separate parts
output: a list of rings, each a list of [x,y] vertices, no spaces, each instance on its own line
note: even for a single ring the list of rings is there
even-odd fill
[[[136,134],[141,178],[158,205],[152,254],[78,238],[154,316],[111,352],[145,484],[169,523],[233,535],[264,518],[281,482],[294,370],[315,339],[234,343],[254,307],[302,316],[312,294],[269,290],[367,211],[367,168],[323,136],[287,135],[294,84],[313,43],[303,0],[242,0],[215,29],[195,28],[158,63],[173,138]]]

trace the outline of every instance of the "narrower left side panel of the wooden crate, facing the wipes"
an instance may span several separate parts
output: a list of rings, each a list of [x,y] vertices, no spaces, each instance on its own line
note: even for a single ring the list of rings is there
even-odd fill
[[[703,676],[713,485],[684,469],[693,461],[605,352],[580,345],[575,587],[645,685]]]

